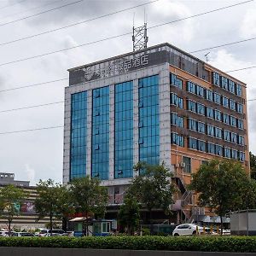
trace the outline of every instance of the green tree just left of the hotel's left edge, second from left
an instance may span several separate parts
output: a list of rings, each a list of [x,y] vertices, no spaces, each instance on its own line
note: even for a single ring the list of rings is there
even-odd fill
[[[68,215],[73,212],[71,194],[67,187],[60,183],[54,183],[52,179],[40,180],[37,184],[37,193],[35,208],[38,219],[49,216],[50,236],[54,218],[62,219],[67,227]]]

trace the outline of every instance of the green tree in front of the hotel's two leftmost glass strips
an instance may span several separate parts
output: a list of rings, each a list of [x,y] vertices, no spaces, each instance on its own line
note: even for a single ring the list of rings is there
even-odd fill
[[[99,179],[89,176],[73,179],[70,190],[75,211],[85,215],[85,235],[88,236],[88,219],[105,215],[108,191],[100,185]]]

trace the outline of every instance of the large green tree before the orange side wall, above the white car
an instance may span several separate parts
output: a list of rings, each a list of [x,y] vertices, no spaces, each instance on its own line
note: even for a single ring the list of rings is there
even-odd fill
[[[192,174],[190,189],[200,193],[198,199],[201,207],[211,207],[220,216],[222,233],[223,216],[242,206],[243,190],[248,183],[241,163],[233,160],[210,160]]]

